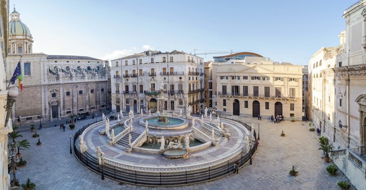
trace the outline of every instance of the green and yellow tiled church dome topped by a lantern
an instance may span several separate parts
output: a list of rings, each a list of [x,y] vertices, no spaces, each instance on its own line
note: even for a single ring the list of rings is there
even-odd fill
[[[29,31],[29,28],[27,25],[22,23],[20,20],[20,14],[18,12],[14,11],[10,14],[10,22],[9,22],[9,36],[12,35],[25,35],[32,37],[31,32]]]

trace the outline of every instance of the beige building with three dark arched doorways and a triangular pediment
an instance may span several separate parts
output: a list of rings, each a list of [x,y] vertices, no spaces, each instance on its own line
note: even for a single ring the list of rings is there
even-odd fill
[[[264,118],[283,115],[285,119],[301,120],[302,66],[274,62],[248,52],[232,57],[239,55],[247,56],[230,58],[226,62],[215,61],[212,65],[217,111]]]

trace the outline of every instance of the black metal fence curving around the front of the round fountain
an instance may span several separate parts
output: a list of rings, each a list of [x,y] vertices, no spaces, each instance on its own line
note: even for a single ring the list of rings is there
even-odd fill
[[[97,158],[91,156],[88,153],[80,153],[76,147],[75,142],[77,141],[79,135],[83,133],[85,129],[90,126],[84,126],[74,136],[74,153],[79,158],[79,160],[94,170],[95,172],[102,173],[102,166],[98,164]],[[252,143],[253,147],[251,149],[252,155],[257,150],[255,143]],[[203,182],[210,179],[214,179],[225,174],[234,172],[234,165],[238,162],[239,167],[244,165],[250,159],[250,153],[241,155],[234,161],[228,161],[227,163],[221,164],[216,167],[202,168],[199,171],[184,171],[184,172],[173,172],[172,173],[143,173],[138,171],[126,171],[115,166],[105,166],[103,165],[104,175],[116,180],[135,183],[141,185],[151,185],[151,186],[165,186],[165,185],[187,185],[191,183]]]

